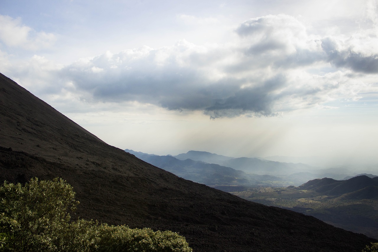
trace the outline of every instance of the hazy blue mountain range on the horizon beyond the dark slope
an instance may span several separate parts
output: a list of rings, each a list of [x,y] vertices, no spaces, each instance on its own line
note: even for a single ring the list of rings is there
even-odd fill
[[[235,158],[206,151],[188,151],[177,156],[158,156],[130,149],[125,151],[184,179],[223,191],[234,191],[237,188],[235,186],[298,186],[319,177],[342,179],[349,175],[332,173],[332,169],[324,170],[303,163]],[[244,190],[244,187],[240,190]]]

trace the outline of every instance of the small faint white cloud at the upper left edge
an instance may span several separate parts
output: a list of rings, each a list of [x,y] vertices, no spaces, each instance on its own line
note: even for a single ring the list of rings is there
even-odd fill
[[[7,47],[39,50],[50,47],[56,41],[54,34],[37,32],[23,25],[20,18],[0,15],[0,23],[0,41]]]

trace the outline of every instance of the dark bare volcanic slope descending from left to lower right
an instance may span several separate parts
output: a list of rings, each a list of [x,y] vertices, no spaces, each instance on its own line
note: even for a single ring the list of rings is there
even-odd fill
[[[107,145],[0,75],[0,179],[66,179],[77,215],[169,229],[195,251],[361,251],[372,240],[181,179]]]

